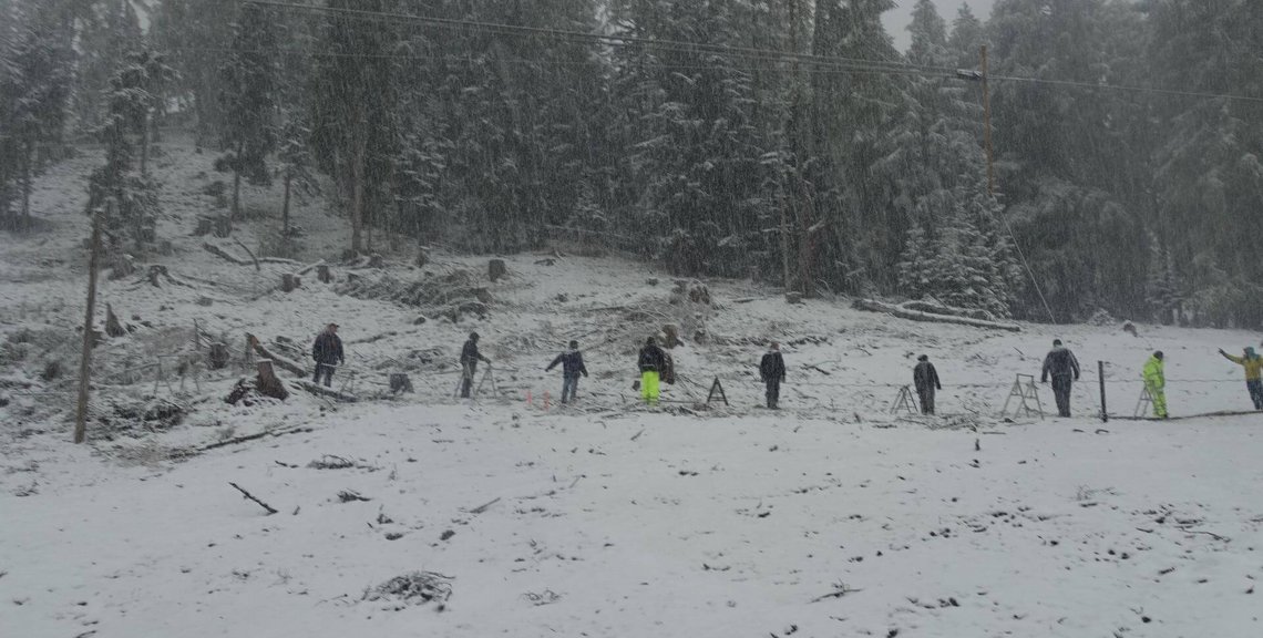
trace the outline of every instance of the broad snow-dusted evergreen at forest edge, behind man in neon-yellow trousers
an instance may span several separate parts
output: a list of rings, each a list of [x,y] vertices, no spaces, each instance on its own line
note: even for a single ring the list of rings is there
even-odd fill
[[[738,39],[740,15],[729,4],[630,0],[615,9],[620,28],[644,39]],[[633,45],[615,56],[634,128],[632,164],[645,184],[629,232],[648,235],[673,272],[745,274],[720,255],[769,206],[759,192],[764,148],[750,76],[726,52]]]

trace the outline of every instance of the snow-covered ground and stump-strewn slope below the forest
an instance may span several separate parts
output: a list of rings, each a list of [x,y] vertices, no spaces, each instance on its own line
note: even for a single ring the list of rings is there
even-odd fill
[[[1138,325],[1022,332],[916,323],[847,299],[787,306],[751,282],[703,282],[714,303],[671,303],[673,280],[615,256],[486,258],[380,246],[384,269],[337,264],[342,222],[302,203],[299,262],[338,278],[273,289],[293,265],[230,264],[231,240],[195,238],[222,176],[171,144],[158,158],[181,284],[101,280],[135,331],[95,350],[90,445],[69,437],[87,235],[82,176],[63,163],[34,197],[44,227],[0,238],[0,635],[1258,635],[1263,416],[1101,423],[1132,416],[1139,368],[1167,354],[1173,416],[1249,408],[1215,350],[1259,336]],[[248,203],[274,210],[275,191]],[[270,215],[270,214],[268,214]],[[274,220],[234,234],[251,249]],[[486,317],[341,294],[370,280],[472,277]],[[424,322],[417,322],[424,316]],[[99,321],[104,320],[100,317]],[[356,371],[333,404],[229,406],[242,368],[187,392],[153,370],[187,352],[195,320],[240,354],[245,332],[296,344],[336,321]],[[682,380],[650,411],[634,352],[663,325]],[[465,335],[482,334],[498,393],[452,398]],[[20,336],[19,336],[20,335]],[[1015,374],[1038,374],[1053,337],[1084,364],[1076,418],[998,418]],[[543,366],[570,339],[592,375],[557,409]],[[786,409],[757,406],[755,364],[784,344]],[[290,352],[290,350],[285,350]],[[917,354],[945,383],[937,418],[892,414]],[[346,380],[351,370],[338,373]],[[416,394],[389,397],[407,371]],[[165,373],[173,380],[169,368]],[[731,407],[701,409],[715,378]],[[186,379],[188,382],[188,379]],[[546,394],[549,404],[546,408]],[[527,397],[532,403],[527,403]],[[1045,408],[1052,397],[1041,387]],[[176,404],[179,419],[141,421]],[[211,447],[251,435],[268,435]],[[274,435],[274,436],[272,436]],[[354,462],[311,467],[313,461]],[[229,485],[236,483],[278,513]],[[354,491],[370,500],[344,502]],[[480,508],[485,505],[485,508]],[[365,599],[414,571],[451,577],[440,605]]]

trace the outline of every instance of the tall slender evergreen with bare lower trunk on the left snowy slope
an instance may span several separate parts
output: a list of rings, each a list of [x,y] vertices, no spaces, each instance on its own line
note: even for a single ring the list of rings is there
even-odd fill
[[[232,52],[220,72],[225,121],[216,168],[232,172],[232,219],[241,217],[241,179],[270,183],[268,154],[277,147],[277,32],[272,11],[256,4],[241,8],[232,25]],[[287,183],[288,196],[288,183]]]

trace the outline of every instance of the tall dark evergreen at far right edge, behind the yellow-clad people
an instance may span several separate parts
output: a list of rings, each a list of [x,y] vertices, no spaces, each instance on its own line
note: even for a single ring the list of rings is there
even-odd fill
[[[1149,4],[1151,72],[1175,91],[1263,95],[1263,16],[1249,0]],[[1156,225],[1181,280],[1197,291],[1187,311],[1219,325],[1260,323],[1263,263],[1248,238],[1263,193],[1263,105],[1221,97],[1163,99],[1156,152]],[[1211,318],[1212,317],[1212,318]]]

